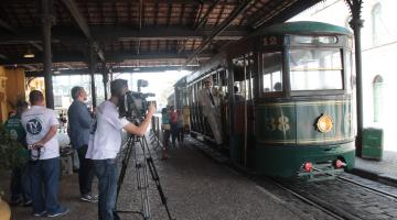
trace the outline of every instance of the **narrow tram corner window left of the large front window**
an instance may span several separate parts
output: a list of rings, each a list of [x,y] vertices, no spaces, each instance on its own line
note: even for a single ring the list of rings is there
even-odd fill
[[[262,54],[264,92],[282,91],[281,52]]]

